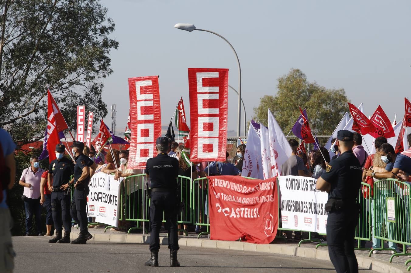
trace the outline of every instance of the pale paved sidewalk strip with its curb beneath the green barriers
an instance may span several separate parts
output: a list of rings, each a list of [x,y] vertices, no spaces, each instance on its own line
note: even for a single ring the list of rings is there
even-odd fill
[[[107,230],[107,232],[104,233],[104,229],[95,228],[90,228],[89,232],[93,235],[93,238],[90,240],[90,242],[94,243],[113,242],[148,244],[150,238],[149,234],[131,233],[127,235],[126,232],[119,232],[115,230]],[[79,230],[73,229],[70,237],[72,239],[75,239],[78,234]],[[160,243],[162,245],[168,245],[168,238],[166,237],[166,235],[166,233],[160,233]],[[270,244],[255,244],[239,241],[215,241],[208,239],[207,235],[202,236],[200,239],[197,239],[197,235],[194,233],[189,233],[188,236],[179,236],[178,243],[180,246],[242,250],[263,253],[265,252],[328,261],[330,260],[330,257],[328,256],[328,248],[326,246],[321,246],[318,248],[318,250],[316,250],[316,244],[314,243],[304,243],[300,247],[298,247],[298,242],[284,243],[284,241],[282,240],[275,240]],[[371,243],[367,243],[367,246],[369,246],[368,244]],[[368,253],[369,252],[365,250],[356,250],[358,266],[381,273],[406,272],[408,266],[404,266],[404,263],[408,259],[411,259],[411,257],[400,256],[395,257],[393,259],[393,262],[390,263],[390,251],[380,251],[378,254],[372,254],[371,257],[368,257]]]

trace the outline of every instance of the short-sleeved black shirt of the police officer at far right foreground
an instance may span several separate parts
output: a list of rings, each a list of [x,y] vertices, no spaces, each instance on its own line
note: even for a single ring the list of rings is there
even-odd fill
[[[346,151],[332,160],[321,178],[331,184],[328,199],[355,200],[361,187],[363,170],[352,151]]]

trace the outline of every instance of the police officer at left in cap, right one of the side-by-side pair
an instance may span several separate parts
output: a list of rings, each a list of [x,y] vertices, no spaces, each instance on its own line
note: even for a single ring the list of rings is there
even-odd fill
[[[90,188],[88,187],[88,183],[90,182],[90,167],[95,167],[95,163],[88,157],[88,155],[83,154],[83,142],[74,141],[70,148],[72,148],[74,160],[76,161],[76,164],[74,165],[74,177],[71,181],[75,184],[70,214],[80,227],[79,237],[74,239],[72,244],[85,244],[87,243],[87,240],[92,238],[92,235],[87,229],[86,198],[88,193],[90,193]]]

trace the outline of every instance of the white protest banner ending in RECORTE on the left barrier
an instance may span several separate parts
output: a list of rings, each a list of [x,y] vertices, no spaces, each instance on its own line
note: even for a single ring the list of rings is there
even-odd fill
[[[95,173],[90,180],[87,196],[88,217],[95,217],[97,223],[118,227],[120,214],[120,181],[114,175]]]

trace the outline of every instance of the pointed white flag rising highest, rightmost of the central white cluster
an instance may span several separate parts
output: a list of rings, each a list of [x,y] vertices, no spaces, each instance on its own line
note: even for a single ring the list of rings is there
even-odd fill
[[[281,165],[289,159],[293,150],[270,109],[268,109],[268,137],[270,139],[271,177],[280,175]]]

